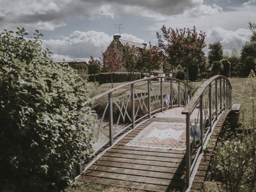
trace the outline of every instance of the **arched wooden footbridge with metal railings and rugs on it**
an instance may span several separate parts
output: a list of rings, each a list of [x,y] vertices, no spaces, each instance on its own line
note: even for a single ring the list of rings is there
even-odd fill
[[[224,76],[210,78],[196,92],[181,80],[152,77],[95,96],[94,104],[85,102],[80,109],[95,111],[95,139],[93,154],[81,158],[79,179],[148,191],[200,190],[218,131],[231,110],[231,89]],[[152,141],[148,147],[129,146],[135,139],[140,142],[149,126],[168,123],[179,126],[179,137],[166,132],[179,138],[173,143],[179,150]]]

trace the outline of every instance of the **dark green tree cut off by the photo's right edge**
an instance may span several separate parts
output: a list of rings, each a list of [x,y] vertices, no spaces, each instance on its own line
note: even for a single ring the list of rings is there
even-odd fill
[[[246,42],[242,46],[241,50],[241,70],[242,76],[248,77],[250,71],[255,72],[255,62],[256,58],[256,41]]]

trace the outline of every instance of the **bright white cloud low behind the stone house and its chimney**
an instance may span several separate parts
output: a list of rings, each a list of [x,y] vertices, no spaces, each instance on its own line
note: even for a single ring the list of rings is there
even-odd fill
[[[143,43],[144,40],[131,34],[121,34],[124,40]],[[62,39],[42,40],[42,46],[48,48],[52,53],[52,59],[62,61],[68,60],[85,60],[88,61],[90,55],[99,58],[102,52],[105,52],[108,45],[112,42],[113,35],[109,36],[104,32],[96,31],[74,31]]]

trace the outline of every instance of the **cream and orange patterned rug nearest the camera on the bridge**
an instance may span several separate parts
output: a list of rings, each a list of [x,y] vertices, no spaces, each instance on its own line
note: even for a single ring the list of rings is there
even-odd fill
[[[126,146],[186,150],[186,123],[152,122]]]

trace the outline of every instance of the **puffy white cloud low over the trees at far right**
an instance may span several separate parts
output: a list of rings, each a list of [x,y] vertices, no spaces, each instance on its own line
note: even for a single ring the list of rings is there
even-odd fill
[[[250,40],[251,32],[248,29],[240,28],[235,31],[225,30],[220,27],[207,30],[206,43],[219,41],[224,50],[230,51],[233,48],[240,50],[246,41]]]

